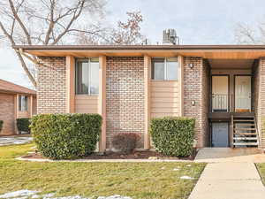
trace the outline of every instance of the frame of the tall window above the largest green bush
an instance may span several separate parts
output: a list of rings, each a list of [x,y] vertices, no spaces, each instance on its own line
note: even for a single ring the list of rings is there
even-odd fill
[[[79,58],[75,58],[75,95],[76,96],[99,96],[99,93],[97,94],[91,94],[91,78],[92,78],[92,73],[91,73],[91,59],[98,59],[97,63],[98,63],[98,68],[100,69],[100,63],[99,63],[99,57],[79,57]],[[78,63],[81,62],[81,61],[84,61],[84,62],[87,62],[87,65],[88,65],[88,81],[87,81],[87,85],[88,85],[88,92],[87,94],[79,94],[78,93],[78,81],[79,81],[79,78],[78,77],[78,70],[77,70],[77,67],[78,67]],[[98,80],[99,80],[99,76],[98,76]],[[99,86],[99,81],[98,81],[98,86]]]

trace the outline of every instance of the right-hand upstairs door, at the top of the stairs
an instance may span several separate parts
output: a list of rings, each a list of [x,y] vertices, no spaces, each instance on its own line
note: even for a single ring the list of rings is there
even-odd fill
[[[235,111],[251,111],[251,76],[235,76]]]

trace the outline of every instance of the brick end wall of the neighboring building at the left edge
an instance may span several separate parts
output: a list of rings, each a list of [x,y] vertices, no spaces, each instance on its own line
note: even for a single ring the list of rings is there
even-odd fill
[[[15,134],[14,96],[0,94],[0,120],[4,120],[4,127],[0,135]]]

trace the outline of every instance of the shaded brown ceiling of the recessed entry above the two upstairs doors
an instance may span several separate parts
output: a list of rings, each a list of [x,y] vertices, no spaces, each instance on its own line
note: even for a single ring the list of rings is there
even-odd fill
[[[254,59],[208,59],[211,68],[250,69]]]

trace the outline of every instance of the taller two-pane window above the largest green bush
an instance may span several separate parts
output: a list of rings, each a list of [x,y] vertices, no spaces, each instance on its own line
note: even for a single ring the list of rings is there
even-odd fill
[[[77,95],[95,96],[99,92],[98,58],[77,59],[75,67]]]

